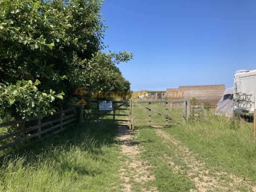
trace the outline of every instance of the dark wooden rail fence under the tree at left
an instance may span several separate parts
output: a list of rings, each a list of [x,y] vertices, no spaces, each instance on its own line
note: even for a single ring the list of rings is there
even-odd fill
[[[11,139],[13,137],[18,137],[18,139],[16,140],[14,138],[10,140],[10,142],[7,141],[7,143],[1,145],[0,151],[12,147],[18,143],[32,140],[33,138],[43,139],[46,136],[59,133],[65,130],[68,124],[77,120],[80,121],[80,118],[79,116],[77,116],[77,114],[79,115],[79,112],[76,112],[76,108],[70,108],[66,110],[57,111],[53,115],[46,115],[40,118],[32,117],[29,118],[27,121],[14,120],[6,123],[1,123],[0,128],[13,125],[19,128],[22,126],[22,124],[29,124],[29,122],[32,121],[32,124],[36,125],[29,126],[27,128],[20,129],[19,131],[0,136],[0,142],[2,143],[4,140]]]

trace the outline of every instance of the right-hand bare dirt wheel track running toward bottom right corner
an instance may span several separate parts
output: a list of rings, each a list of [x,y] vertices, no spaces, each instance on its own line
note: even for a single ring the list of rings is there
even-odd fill
[[[181,145],[181,143],[173,138],[171,135],[167,134],[161,129],[156,129],[156,133],[171,141],[181,153],[183,161],[188,165],[189,169],[187,171],[188,177],[193,180],[196,184],[196,187],[199,191],[237,191],[236,186],[245,186],[251,191],[256,191],[256,187],[253,187],[250,182],[244,181],[242,178],[230,175],[229,178],[232,179],[232,182],[221,181],[221,177],[227,177],[225,172],[211,172],[205,168],[204,162],[200,162],[196,159],[198,154],[194,154],[188,148]],[[169,160],[169,158],[168,158]],[[170,160],[169,160],[170,161]],[[175,165],[171,161],[171,166],[174,167],[177,171],[179,166]],[[211,173],[211,174],[209,174]],[[216,175],[216,176],[212,176]],[[192,190],[193,191],[193,190]]]

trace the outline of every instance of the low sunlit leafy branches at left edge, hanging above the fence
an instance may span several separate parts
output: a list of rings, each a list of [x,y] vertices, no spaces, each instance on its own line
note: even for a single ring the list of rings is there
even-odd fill
[[[24,119],[55,112],[50,108],[50,104],[55,98],[62,99],[64,93],[56,94],[52,90],[48,94],[40,92],[36,87],[38,84],[38,80],[35,83],[18,81],[15,85],[0,84],[0,117],[5,114],[16,114],[16,117]]]

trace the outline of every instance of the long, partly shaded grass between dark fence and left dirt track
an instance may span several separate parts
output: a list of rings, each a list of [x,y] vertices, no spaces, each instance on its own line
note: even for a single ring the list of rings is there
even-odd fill
[[[120,191],[112,122],[80,124],[4,159],[1,191]]]

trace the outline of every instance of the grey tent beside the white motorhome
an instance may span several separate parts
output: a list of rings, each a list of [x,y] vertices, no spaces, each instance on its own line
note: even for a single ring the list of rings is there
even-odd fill
[[[234,88],[227,89],[223,96],[220,98],[217,108],[215,110],[216,115],[225,115],[227,117],[232,117],[233,112],[233,94]]]

